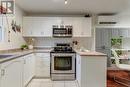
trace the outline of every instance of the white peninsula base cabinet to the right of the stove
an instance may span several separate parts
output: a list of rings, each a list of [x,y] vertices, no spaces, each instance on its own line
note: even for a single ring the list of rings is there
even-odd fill
[[[106,56],[76,56],[76,79],[79,87],[106,87]]]

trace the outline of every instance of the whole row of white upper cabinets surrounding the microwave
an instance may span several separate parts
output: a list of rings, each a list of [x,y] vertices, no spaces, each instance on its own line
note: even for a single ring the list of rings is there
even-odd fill
[[[72,25],[73,37],[91,36],[91,18],[85,17],[24,17],[23,36],[52,37],[53,25]]]

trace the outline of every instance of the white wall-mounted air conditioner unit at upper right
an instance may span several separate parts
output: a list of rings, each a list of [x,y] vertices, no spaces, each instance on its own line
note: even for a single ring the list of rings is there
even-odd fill
[[[117,24],[117,18],[116,16],[98,16],[98,24],[99,25],[111,25],[111,24]]]

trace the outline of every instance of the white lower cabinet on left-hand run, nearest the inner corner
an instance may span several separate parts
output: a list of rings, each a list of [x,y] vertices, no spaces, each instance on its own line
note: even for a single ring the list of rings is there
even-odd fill
[[[23,68],[23,80],[24,86],[28,84],[28,82],[35,75],[35,57],[34,54],[29,54],[24,56],[24,68]]]

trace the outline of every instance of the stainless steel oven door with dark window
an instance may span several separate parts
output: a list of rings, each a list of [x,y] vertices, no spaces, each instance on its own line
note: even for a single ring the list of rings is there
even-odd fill
[[[75,73],[75,54],[52,54],[51,73]]]

